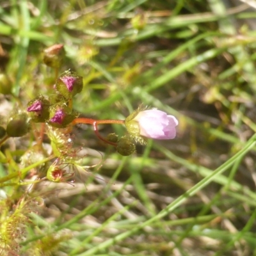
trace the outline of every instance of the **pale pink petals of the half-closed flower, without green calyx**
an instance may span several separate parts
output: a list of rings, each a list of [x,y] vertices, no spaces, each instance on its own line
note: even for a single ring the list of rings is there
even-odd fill
[[[133,119],[140,125],[140,135],[156,140],[175,138],[178,120],[157,109],[140,111]]]

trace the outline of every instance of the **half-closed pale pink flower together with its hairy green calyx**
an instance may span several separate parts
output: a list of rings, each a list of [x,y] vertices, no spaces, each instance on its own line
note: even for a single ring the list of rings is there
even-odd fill
[[[155,140],[170,140],[175,138],[178,120],[157,109],[140,111],[138,109],[125,120],[125,126],[131,136],[138,139],[143,136]]]

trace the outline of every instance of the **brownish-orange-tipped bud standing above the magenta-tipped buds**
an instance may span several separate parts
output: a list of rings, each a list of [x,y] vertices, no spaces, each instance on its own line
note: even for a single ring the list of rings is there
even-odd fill
[[[51,68],[59,68],[63,62],[64,55],[63,44],[54,44],[44,50],[44,63]]]

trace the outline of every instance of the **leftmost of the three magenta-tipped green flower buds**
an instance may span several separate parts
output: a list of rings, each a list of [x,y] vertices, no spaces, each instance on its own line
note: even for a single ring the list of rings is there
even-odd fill
[[[31,116],[31,120],[36,123],[42,123],[45,122],[45,120],[48,120],[49,106],[49,100],[45,99],[42,95],[29,101],[27,111]]]

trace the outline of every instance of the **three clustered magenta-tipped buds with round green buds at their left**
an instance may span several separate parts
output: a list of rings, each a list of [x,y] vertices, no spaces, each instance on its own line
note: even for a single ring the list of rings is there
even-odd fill
[[[28,133],[31,122],[47,123],[65,128],[79,113],[72,109],[72,97],[83,89],[83,77],[67,70],[56,79],[56,93],[49,99],[39,95],[28,102],[27,111],[18,110],[8,120],[6,127],[0,125],[1,142],[9,137],[20,137]]]

